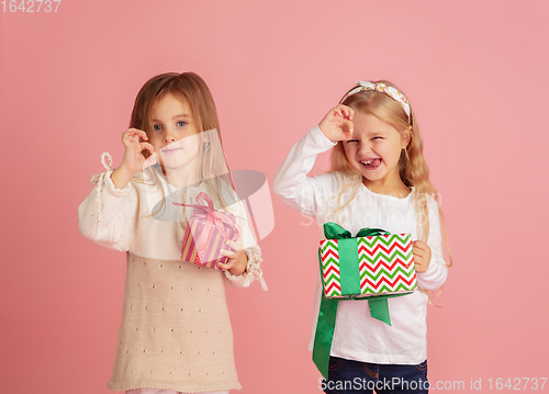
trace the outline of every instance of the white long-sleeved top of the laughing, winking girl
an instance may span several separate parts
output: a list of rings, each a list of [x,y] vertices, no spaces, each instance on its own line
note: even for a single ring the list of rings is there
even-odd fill
[[[417,213],[414,206],[414,193],[404,199],[377,194],[362,183],[350,185],[344,202],[352,201],[334,216],[335,199],[345,177],[327,173],[307,177],[313,168],[316,155],[334,147],[332,140],[318,126],[311,130],[290,151],[287,160],[274,178],[274,192],[289,205],[303,214],[316,217],[321,239],[325,239],[323,225],[336,222],[354,236],[362,227],[383,228],[390,233],[410,233],[412,239],[418,239]],[[344,194],[345,195],[345,194]],[[417,284],[425,290],[439,289],[446,280],[447,267],[441,250],[438,205],[428,196],[429,237],[427,245],[432,249],[432,259],[426,272],[417,273]],[[317,245],[311,245],[312,248]],[[318,264],[317,261],[311,261]],[[321,275],[315,297],[315,317],[311,330],[309,349],[313,349],[316,330],[316,316],[321,303]],[[370,316],[368,302],[340,301],[337,309],[336,327],[330,354],[350,360],[372,363],[418,364],[427,358],[427,301],[419,291],[412,294],[389,299],[392,326]]]

